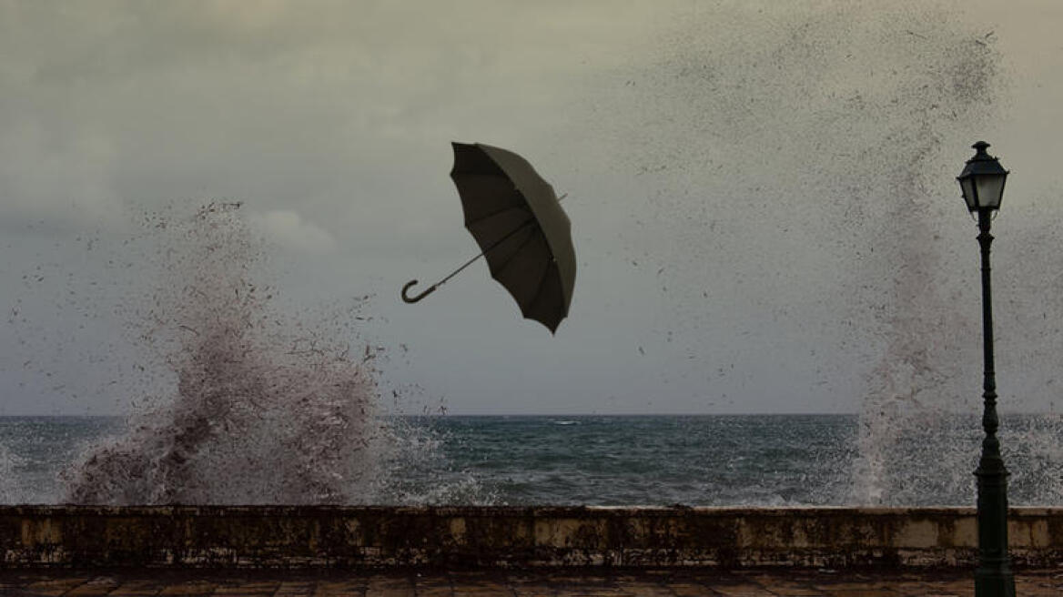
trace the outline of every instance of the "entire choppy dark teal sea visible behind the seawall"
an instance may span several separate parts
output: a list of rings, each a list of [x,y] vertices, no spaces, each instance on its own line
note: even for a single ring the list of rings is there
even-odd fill
[[[1060,505],[1057,455],[1034,449],[1058,427],[1006,415],[1011,504]],[[906,491],[861,494],[858,415],[385,416],[399,446],[381,457],[381,491],[354,502],[395,505],[973,506],[981,430],[974,416],[896,442],[891,477]],[[1011,428],[1011,431],[1008,429]],[[69,501],[82,455],[128,432],[108,416],[0,417],[9,504]],[[1054,436],[1058,438],[1059,436]],[[1049,438],[1052,443],[1054,439]],[[941,449],[942,445],[950,449]],[[939,446],[939,447],[934,447]],[[946,454],[965,455],[951,462]],[[922,455],[922,456],[921,456]],[[928,456],[929,455],[929,456]],[[280,458],[280,456],[277,457]],[[891,460],[891,461],[894,461]],[[266,465],[268,466],[268,461]],[[367,464],[368,465],[368,464]],[[884,497],[883,497],[884,496]],[[891,497],[891,496],[901,496]],[[907,496],[907,497],[906,497]],[[912,498],[910,496],[916,496]],[[180,500],[179,500],[180,501]],[[266,500],[270,501],[270,500]],[[313,500],[310,500],[313,501]]]

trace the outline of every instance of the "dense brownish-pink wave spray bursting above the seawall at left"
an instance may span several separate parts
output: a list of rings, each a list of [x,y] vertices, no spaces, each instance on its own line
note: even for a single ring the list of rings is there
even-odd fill
[[[155,287],[125,307],[169,385],[64,473],[78,504],[352,504],[386,484],[394,436],[373,358],[282,313],[238,204],[150,216]],[[354,319],[349,312],[348,320]],[[333,322],[335,323],[335,322]],[[152,361],[154,365],[152,365]],[[138,365],[141,370],[147,368]],[[168,386],[168,388],[167,388]]]

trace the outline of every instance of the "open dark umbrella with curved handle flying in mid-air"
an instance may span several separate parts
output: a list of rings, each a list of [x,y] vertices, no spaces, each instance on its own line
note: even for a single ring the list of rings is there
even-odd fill
[[[569,314],[576,282],[571,224],[560,199],[516,153],[484,143],[452,144],[451,178],[461,198],[466,228],[482,253],[412,297],[407,291],[417,280],[410,280],[402,289],[403,301],[424,298],[486,257],[491,277],[512,294],[521,313],[557,331]]]

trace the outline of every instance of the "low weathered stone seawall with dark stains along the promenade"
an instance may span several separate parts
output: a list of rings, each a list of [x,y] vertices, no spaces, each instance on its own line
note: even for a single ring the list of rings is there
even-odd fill
[[[1016,566],[1063,509],[1016,508]],[[0,507],[6,567],[969,567],[971,508]]]

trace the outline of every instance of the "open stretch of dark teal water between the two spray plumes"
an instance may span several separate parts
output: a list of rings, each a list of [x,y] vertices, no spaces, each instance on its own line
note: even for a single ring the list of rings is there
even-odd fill
[[[454,471],[506,504],[830,501],[853,416],[453,416],[431,422]]]

